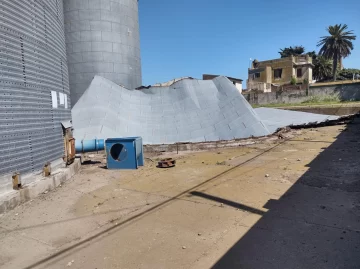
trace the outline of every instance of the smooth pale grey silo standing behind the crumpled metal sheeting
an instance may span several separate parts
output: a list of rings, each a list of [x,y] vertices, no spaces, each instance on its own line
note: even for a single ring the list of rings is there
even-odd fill
[[[141,86],[138,0],[64,0],[72,104],[95,75]]]

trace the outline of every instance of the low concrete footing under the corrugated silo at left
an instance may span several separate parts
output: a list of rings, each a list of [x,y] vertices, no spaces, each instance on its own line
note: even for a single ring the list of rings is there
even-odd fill
[[[36,176],[32,183],[23,186],[20,190],[12,190],[0,195],[0,214],[12,210],[22,203],[36,198],[38,195],[57,188],[72,178],[81,167],[79,159],[66,168],[58,168],[49,177]]]

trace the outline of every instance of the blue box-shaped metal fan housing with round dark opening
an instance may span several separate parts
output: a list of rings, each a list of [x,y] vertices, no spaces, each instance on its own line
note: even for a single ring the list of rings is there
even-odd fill
[[[105,141],[108,169],[138,169],[144,166],[141,137],[109,138]]]

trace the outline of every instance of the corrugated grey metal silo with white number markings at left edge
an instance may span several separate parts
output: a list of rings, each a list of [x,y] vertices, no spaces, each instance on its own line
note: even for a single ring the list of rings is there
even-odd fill
[[[0,0],[0,192],[11,175],[41,171],[64,156],[71,119],[59,0]]]

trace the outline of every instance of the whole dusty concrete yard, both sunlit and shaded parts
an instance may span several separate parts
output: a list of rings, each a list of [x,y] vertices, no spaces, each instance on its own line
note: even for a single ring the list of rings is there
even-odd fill
[[[360,268],[360,121],[84,165],[0,217],[0,268]],[[94,158],[94,159],[96,159]]]

